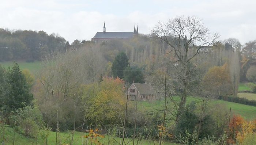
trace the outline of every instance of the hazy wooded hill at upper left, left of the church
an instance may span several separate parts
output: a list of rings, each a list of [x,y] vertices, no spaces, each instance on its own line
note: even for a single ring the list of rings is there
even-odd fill
[[[0,28],[0,61],[41,60],[42,56],[65,52],[69,43],[56,34],[44,31],[15,30]]]

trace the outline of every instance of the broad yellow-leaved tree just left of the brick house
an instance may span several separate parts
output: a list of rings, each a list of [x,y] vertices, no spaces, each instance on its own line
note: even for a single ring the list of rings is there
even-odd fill
[[[85,85],[82,100],[86,117],[97,125],[118,123],[124,116],[124,92],[124,82],[119,78],[105,77],[100,83]]]

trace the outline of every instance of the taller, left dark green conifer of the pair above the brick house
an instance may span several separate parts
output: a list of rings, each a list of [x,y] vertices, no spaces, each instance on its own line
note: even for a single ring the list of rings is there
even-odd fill
[[[113,77],[124,78],[124,69],[129,66],[129,60],[124,52],[118,53],[115,60],[113,61],[112,71]]]

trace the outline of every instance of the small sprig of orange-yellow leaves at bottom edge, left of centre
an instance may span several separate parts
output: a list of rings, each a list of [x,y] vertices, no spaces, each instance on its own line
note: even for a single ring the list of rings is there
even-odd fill
[[[89,130],[89,134],[86,136],[83,136],[84,138],[87,138],[87,140],[90,140],[91,144],[94,143],[94,145],[103,145],[100,142],[100,139],[98,139],[98,137],[104,138],[105,136],[102,136],[100,134],[98,134],[99,130],[98,129],[90,129]]]

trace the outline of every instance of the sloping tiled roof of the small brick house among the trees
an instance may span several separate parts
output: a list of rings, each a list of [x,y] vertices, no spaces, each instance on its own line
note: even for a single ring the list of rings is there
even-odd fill
[[[156,94],[155,89],[150,84],[133,83],[136,89],[141,95],[153,95]]]

